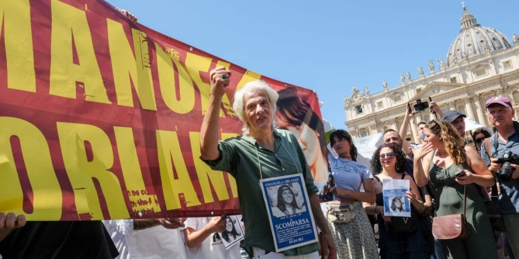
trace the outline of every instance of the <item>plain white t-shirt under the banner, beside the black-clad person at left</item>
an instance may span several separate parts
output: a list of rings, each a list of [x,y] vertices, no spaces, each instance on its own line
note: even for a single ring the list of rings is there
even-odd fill
[[[134,220],[104,220],[119,259],[187,259],[183,233],[162,226],[134,230]]]

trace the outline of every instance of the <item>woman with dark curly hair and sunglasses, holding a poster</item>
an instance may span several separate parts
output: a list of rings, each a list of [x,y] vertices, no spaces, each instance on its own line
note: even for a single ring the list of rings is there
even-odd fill
[[[384,215],[384,199],[382,193],[383,180],[409,180],[409,190],[406,196],[409,199],[411,206],[411,213],[417,217],[417,212],[424,209],[424,202],[422,202],[420,193],[418,191],[415,181],[411,176],[406,174],[408,163],[406,162],[406,154],[402,149],[393,143],[384,143],[373,154],[371,160],[371,167],[374,173],[376,203],[370,204],[365,202],[364,209],[367,213],[376,215],[376,220],[379,223],[379,249],[382,259],[428,259],[430,258],[429,244],[424,238],[422,230],[417,227],[410,233],[391,233],[385,228],[386,224],[391,224],[392,219]],[[402,203],[400,198],[396,198]],[[401,207],[401,205],[399,205]],[[396,206],[394,209],[398,211]],[[400,218],[399,218],[400,219]]]

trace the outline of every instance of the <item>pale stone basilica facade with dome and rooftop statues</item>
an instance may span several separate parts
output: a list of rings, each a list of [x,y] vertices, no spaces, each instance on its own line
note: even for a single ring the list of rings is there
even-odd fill
[[[353,137],[389,128],[398,131],[408,102],[429,102],[428,97],[444,110],[457,110],[491,126],[484,104],[490,97],[503,95],[511,100],[519,116],[519,37],[513,34],[509,41],[498,30],[481,26],[465,6],[463,9],[462,30],[450,44],[445,60],[431,60],[426,68],[417,68],[415,78],[410,72],[401,74],[398,86],[388,88],[383,81],[380,93],[353,88],[352,95],[344,97],[345,125]],[[419,143],[417,123],[434,116],[428,109],[417,113],[406,138]]]

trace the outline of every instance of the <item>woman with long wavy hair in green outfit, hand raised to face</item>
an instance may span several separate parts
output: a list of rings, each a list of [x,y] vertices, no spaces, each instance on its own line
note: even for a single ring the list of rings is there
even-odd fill
[[[415,151],[414,174],[418,186],[429,183],[435,191],[436,215],[463,213],[466,193],[468,237],[441,240],[444,254],[447,258],[498,258],[489,216],[475,186],[493,186],[492,174],[474,148],[462,146],[448,122],[428,122],[425,134],[426,144]],[[457,173],[461,175],[456,177]]]

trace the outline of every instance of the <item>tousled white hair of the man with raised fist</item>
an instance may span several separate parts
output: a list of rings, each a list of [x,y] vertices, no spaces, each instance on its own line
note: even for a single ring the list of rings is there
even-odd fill
[[[244,123],[242,127],[242,133],[248,134],[251,130],[251,125],[246,122],[245,119],[245,94],[251,93],[253,90],[262,90],[266,94],[268,98],[268,102],[271,104],[272,108],[272,128],[277,127],[277,121],[275,119],[275,111],[277,111],[277,99],[279,95],[277,95],[276,91],[268,86],[263,80],[250,81],[244,85],[242,89],[239,89],[235,92],[233,109],[238,116],[239,120]]]

